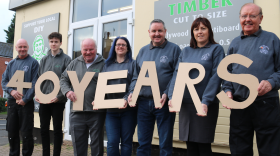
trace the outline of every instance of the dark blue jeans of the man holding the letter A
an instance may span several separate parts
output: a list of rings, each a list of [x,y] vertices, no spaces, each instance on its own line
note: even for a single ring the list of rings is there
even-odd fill
[[[154,100],[138,99],[138,142],[137,156],[151,155],[151,142],[155,120],[159,135],[160,156],[172,155],[173,127],[176,113],[170,113],[168,100],[161,109],[155,109]]]

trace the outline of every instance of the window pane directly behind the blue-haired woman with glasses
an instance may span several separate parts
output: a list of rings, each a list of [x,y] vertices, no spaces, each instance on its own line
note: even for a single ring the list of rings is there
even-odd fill
[[[127,20],[103,25],[102,55],[105,59],[108,58],[113,41],[118,36],[127,37]]]

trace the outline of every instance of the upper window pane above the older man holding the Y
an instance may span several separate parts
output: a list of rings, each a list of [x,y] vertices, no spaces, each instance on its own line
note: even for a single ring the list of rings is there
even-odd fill
[[[98,3],[99,0],[74,0],[73,22],[97,17]]]

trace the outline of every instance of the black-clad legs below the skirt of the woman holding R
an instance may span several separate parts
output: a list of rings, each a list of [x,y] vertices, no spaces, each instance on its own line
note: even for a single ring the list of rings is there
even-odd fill
[[[212,156],[211,143],[186,142],[187,156]]]

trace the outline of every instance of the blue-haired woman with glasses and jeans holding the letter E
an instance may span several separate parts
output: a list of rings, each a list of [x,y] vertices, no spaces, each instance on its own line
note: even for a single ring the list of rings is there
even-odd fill
[[[102,72],[128,70],[127,78],[108,81],[108,85],[126,84],[125,93],[107,94],[106,99],[124,99],[124,106],[119,109],[107,109],[106,132],[107,132],[107,155],[120,156],[119,143],[121,140],[121,155],[131,156],[132,137],[137,124],[137,108],[129,107],[127,97],[128,89],[133,76],[134,60],[129,41],[125,37],[117,37],[105,61]],[[94,102],[93,102],[94,104]]]

